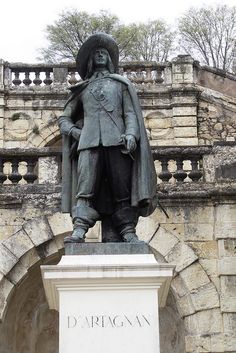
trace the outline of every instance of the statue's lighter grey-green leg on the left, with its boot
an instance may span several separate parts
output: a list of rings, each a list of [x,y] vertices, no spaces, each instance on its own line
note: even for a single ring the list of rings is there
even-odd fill
[[[99,150],[80,151],[78,158],[77,203],[72,210],[74,229],[72,236],[64,239],[65,243],[81,243],[90,227],[100,218],[93,208],[92,199],[97,183]]]

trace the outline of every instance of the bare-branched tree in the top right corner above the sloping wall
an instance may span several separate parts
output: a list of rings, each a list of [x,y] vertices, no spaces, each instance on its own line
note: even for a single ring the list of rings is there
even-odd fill
[[[190,8],[178,24],[180,46],[202,63],[232,70],[236,43],[236,7]]]

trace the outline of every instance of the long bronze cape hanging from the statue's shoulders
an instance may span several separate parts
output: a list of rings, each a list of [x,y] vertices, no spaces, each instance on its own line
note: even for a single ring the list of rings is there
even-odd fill
[[[139,216],[149,216],[157,206],[157,177],[154,161],[144,126],[142,110],[135,88],[129,80],[118,74],[108,76],[116,81],[125,84],[131,97],[131,101],[136,113],[140,130],[140,139],[135,150],[135,158],[132,167],[131,182],[131,205],[138,209]],[[85,80],[70,88],[71,95],[66,105],[76,99],[78,95],[87,87],[89,81]],[[65,105],[65,107],[66,107]],[[78,108],[76,117],[72,120],[83,120],[82,107]],[[74,120],[74,123],[76,123]],[[77,184],[77,154],[73,152],[75,146],[70,136],[63,135],[62,146],[62,212],[71,213],[75,204],[76,184]],[[105,199],[103,194],[103,200]],[[96,202],[99,204],[99,202]]]

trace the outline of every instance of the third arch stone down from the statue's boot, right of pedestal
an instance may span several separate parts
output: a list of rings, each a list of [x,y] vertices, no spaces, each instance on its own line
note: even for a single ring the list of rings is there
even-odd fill
[[[165,258],[167,262],[176,265],[176,272],[182,271],[197,260],[197,256],[194,251],[182,242],[177,243],[172,248],[171,252],[165,256]]]

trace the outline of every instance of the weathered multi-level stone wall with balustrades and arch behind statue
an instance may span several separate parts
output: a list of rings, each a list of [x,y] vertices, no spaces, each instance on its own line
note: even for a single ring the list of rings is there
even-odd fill
[[[139,93],[166,211],[140,218],[137,233],[158,261],[176,265],[160,313],[161,350],[235,352],[235,80],[189,56],[121,69]],[[27,72],[38,75],[30,85]],[[73,65],[0,63],[0,353],[58,351],[58,316],[39,267],[59,261],[72,230],[60,212],[57,126],[68,74],[75,82]],[[98,224],[88,241],[99,239]]]

